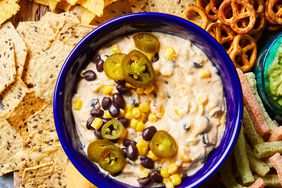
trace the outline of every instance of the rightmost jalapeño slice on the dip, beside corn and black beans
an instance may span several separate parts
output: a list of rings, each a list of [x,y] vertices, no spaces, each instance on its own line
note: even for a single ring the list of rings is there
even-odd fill
[[[175,139],[166,131],[157,131],[150,142],[152,152],[162,158],[172,157],[177,153],[178,147]]]

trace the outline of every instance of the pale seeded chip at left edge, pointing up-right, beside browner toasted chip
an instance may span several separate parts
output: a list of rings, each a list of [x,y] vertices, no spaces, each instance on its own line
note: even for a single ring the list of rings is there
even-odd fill
[[[27,86],[23,83],[20,78],[17,78],[16,82],[9,86],[2,95],[0,95],[1,106],[0,118],[7,117],[14,108],[22,101],[26,92],[28,91]]]

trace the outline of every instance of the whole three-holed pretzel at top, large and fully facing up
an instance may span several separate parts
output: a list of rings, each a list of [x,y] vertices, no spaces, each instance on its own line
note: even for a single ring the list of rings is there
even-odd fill
[[[225,0],[218,9],[218,18],[221,22],[229,25],[236,33],[244,34],[254,27],[256,12],[246,0]],[[244,26],[243,22],[247,25]]]

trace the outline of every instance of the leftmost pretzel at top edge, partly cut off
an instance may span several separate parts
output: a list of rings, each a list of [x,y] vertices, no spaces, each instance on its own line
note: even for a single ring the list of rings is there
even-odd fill
[[[217,11],[223,0],[197,0],[197,6],[202,8],[211,21],[216,21]]]

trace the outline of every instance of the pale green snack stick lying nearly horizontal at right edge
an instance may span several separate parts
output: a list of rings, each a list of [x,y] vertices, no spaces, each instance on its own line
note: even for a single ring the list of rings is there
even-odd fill
[[[270,157],[275,153],[282,153],[282,141],[265,142],[257,144],[253,150],[257,158]]]

